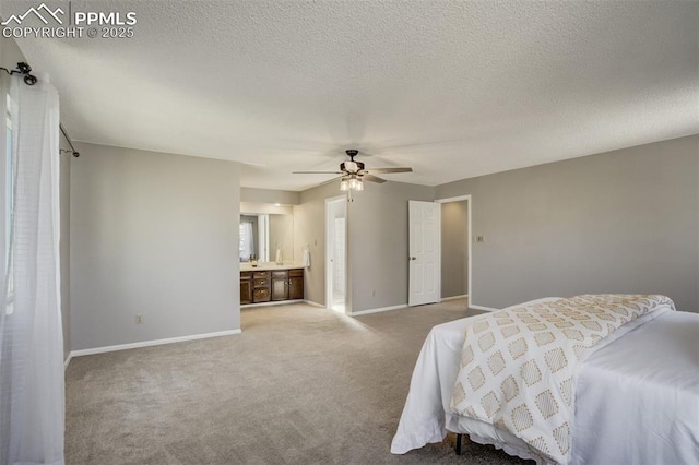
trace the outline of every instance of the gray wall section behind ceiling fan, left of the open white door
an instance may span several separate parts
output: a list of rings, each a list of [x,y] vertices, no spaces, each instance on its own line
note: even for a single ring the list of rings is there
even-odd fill
[[[365,184],[347,212],[353,312],[407,303],[407,201],[431,202],[435,192],[403,182]]]

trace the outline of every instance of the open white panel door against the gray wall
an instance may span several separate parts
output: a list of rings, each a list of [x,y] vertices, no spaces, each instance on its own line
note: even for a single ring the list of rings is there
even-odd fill
[[[433,202],[408,201],[408,306],[439,301],[440,206]]]

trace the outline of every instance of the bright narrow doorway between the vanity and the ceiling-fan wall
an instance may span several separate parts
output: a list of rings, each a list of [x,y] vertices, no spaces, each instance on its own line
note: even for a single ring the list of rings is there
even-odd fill
[[[325,307],[345,312],[347,301],[347,201],[325,200]]]

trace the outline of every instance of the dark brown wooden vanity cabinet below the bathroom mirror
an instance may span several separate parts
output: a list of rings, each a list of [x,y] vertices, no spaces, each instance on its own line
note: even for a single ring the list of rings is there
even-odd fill
[[[303,269],[240,272],[241,305],[303,298]]]

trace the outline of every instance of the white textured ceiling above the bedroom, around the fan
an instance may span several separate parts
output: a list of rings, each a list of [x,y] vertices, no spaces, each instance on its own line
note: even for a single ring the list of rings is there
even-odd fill
[[[2,2],[4,17],[32,2]],[[67,2],[46,2],[49,5]],[[20,39],[79,141],[301,190],[347,147],[439,184],[699,133],[696,1],[72,1],[131,39]]]

